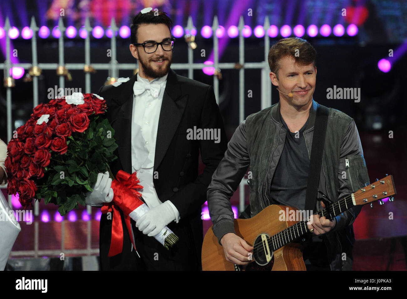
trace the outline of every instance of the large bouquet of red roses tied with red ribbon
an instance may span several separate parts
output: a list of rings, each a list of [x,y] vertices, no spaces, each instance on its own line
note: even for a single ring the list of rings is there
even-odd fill
[[[54,203],[62,216],[78,204],[85,206],[84,193],[92,191],[99,172],[108,171],[114,178],[109,164],[117,159],[114,155],[117,144],[114,129],[101,116],[106,109],[103,98],[82,93],[55,98],[35,107],[31,118],[14,131],[7,146],[8,193],[18,193],[24,208],[32,205],[33,198]],[[126,223],[129,217],[137,220],[149,210],[140,199],[141,194],[136,192],[142,188],[138,183],[136,173],[120,171],[118,180],[112,182],[112,203],[102,211],[107,213],[119,207],[125,212]],[[114,213],[113,221],[116,224],[113,227],[120,223],[121,228],[120,214]],[[128,228],[132,236],[131,226]],[[164,229],[155,238],[168,248],[175,244],[177,237],[167,227]],[[117,244],[113,245],[112,240],[113,246]],[[113,252],[120,253],[121,247],[113,250],[112,255]]]

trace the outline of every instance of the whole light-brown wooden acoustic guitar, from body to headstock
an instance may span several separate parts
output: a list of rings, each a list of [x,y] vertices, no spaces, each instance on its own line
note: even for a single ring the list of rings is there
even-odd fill
[[[328,205],[325,209],[315,213],[325,216],[327,219],[341,214],[355,205],[365,205],[373,201],[389,197],[394,201],[392,195],[396,194],[393,176],[377,180],[364,188],[345,196],[343,199]],[[372,204],[371,204],[372,205]],[[284,214],[284,215],[283,215]],[[306,234],[309,229],[307,222],[309,216],[300,221],[292,215],[301,215],[300,211],[293,207],[283,205],[269,205],[256,216],[249,219],[235,219],[234,229],[236,235],[243,238],[250,246],[253,253],[247,258],[252,260],[245,270],[261,271],[305,271],[302,259],[302,245],[293,241],[298,240]],[[282,217],[284,216],[284,217]],[[205,235],[202,245],[202,270],[204,271],[241,271],[241,266],[228,262],[219,244],[217,237],[213,234],[212,227]]]

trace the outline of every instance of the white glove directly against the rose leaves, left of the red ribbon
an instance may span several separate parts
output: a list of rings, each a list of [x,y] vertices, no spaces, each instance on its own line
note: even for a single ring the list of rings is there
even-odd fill
[[[104,174],[99,172],[98,179],[92,187],[92,192],[85,193],[86,204],[93,207],[101,207],[103,203],[109,203],[113,199],[112,179],[109,178],[109,172]]]

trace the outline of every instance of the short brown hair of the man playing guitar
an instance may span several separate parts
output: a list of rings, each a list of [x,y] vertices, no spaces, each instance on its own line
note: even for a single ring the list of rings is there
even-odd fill
[[[299,51],[299,56],[295,56],[295,50]],[[299,37],[280,39],[270,48],[268,56],[270,71],[276,74],[277,79],[281,68],[280,59],[284,57],[293,57],[295,63],[300,65],[313,63],[314,68],[317,65],[317,51],[308,41]]]

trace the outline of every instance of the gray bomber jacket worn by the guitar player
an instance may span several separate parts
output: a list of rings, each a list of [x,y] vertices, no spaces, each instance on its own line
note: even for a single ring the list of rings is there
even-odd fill
[[[313,100],[303,132],[309,157],[318,105]],[[252,172],[249,179],[250,216],[255,216],[268,205],[276,204],[269,196],[269,184],[287,133],[280,122],[279,111],[280,103],[277,103],[248,116],[236,129],[225,156],[212,176],[207,199],[213,231],[219,242],[225,234],[235,233],[230,197],[239,187],[248,166]],[[332,108],[329,109],[321,168],[319,191],[333,202],[369,183],[356,124],[348,115]],[[317,202],[317,210],[321,209]],[[352,269],[355,241],[352,223],[360,210],[361,206],[355,206],[338,215],[335,227],[323,235],[331,270]]]

